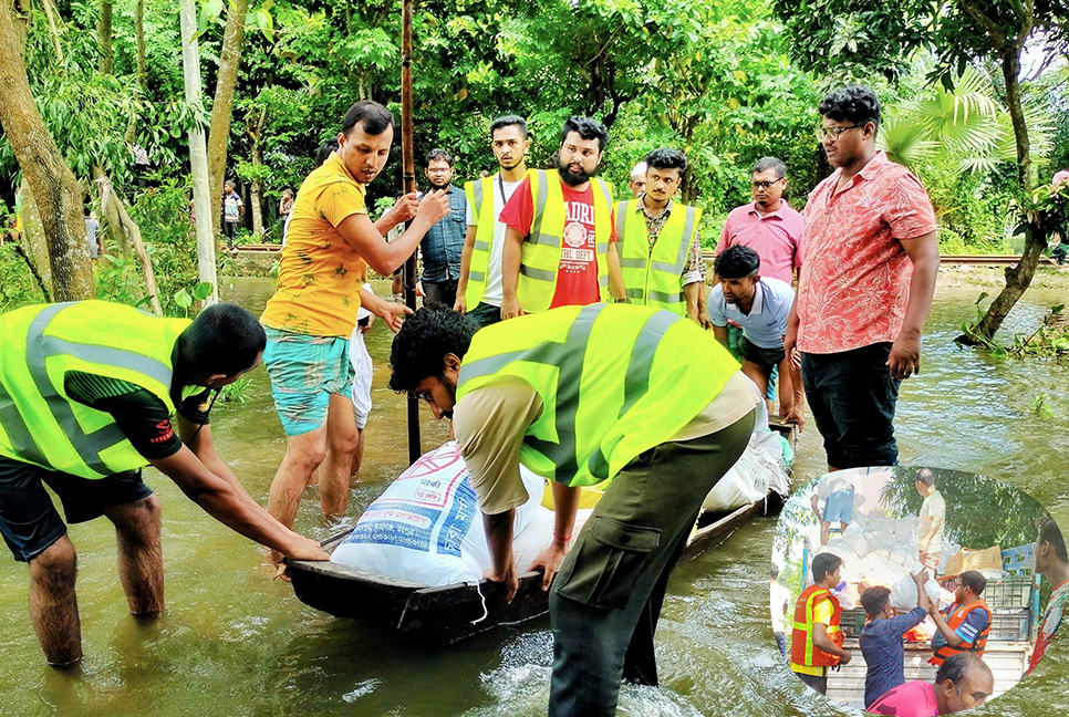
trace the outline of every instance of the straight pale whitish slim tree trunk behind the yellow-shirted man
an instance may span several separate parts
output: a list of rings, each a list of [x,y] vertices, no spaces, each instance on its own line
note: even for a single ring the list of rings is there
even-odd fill
[[[195,0],[180,0],[178,18],[181,29],[181,70],[186,85],[186,102],[200,102],[200,49],[194,34],[197,31],[197,6]],[[211,216],[218,215],[219,197],[208,196],[208,153],[204,131],[189,129],[189,166],[193,173],[193,202],[197,214],[197,269],[200,281],[211,284],[211,295],[205,303],[219,300],[216,280],[216,243],[211,230]],[[221,196],[221,190],[220,190]],[[214,201],[212,201],[214,200]]]

